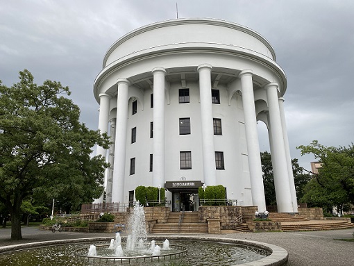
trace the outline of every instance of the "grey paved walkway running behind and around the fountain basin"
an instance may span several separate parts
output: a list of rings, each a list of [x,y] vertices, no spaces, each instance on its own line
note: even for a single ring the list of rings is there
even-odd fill
[[[230,233],[221,235],[205,235],[212,238],[237,238],[276,244],[289,253],[288,266],[353,266],[354,242],[334,240],[338,238],[353,238],[354,229],[333,231],[301,231],[301,232],[271,232],[271,233]],[[47,240],[64,240],[74,238],[114,237],[112,233],[76,233],[40,231],[37,227],[23,227],[23,240],[11,241],[10,228],[0,228],[0,247],[10,244],[40,242]],[[153,234],[149,235],[150,237]],[[160,236],[160,234],[159,234]],[[173,235],[167,235],[171,238]],[[190,235],[193,237],[193,235]],[[1,256],[1,255],[0,255]]]

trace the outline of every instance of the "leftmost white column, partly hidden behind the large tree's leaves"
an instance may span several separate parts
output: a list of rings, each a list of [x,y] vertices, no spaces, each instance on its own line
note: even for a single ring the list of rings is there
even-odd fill
[[[108,116],[110,112],[110,95],[106,93],[99,94],[99,131],[107,133],[108,131]],[[97,145],[96,155],[101,155],[106,158],[107,150]],[[105,174],[106,178],[106,174]],[[103,203],[103,194],[99,199],[94,199],[94,203]]]

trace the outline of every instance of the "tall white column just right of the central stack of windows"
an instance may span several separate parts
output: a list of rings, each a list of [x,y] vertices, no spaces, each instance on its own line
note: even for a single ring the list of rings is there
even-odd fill
[[[201,138],[203,145],[203,175],[206,185],[217,185],[214,128],[212,124],[212,66],[199,65],[199,93],[201,97]]]

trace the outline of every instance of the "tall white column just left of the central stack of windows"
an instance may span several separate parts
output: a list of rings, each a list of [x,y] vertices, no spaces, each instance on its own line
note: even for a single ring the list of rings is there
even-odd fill
[[[165,74],[155,67],[153,74],[153,186],[165,184]]]

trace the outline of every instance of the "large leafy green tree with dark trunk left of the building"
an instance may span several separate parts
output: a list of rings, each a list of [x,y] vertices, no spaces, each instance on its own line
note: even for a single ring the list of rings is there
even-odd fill
[[[21,206],[29,197],[73,194],[92,201],[103,191],[106,165],[90,157],[92,147],[108,148],[106,134],[79,122],[80,110],[56,81],[33,82],[19,72],[11,88],[0,81],[0,201],[11,216],[11,239],[21,240]]]

